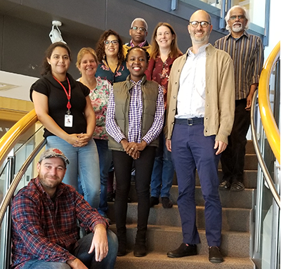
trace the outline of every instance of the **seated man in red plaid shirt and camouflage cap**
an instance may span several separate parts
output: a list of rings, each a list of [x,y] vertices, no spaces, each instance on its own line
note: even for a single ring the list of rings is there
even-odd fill
[[[15,195],[11,268],[114,268],[117,237],[84,197],[62,183],[67,164],[63,152],[49,148],[37,163],[37,178]],[[89,233],[81,239],[77,223]]]

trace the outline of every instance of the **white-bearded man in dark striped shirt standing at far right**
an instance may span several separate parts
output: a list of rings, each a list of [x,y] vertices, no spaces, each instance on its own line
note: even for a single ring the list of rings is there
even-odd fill
[[[228,137],[228,147],[221,155],[223,180],[219,188],[241,191],[244,190],[244,156],[251,103],[263,67],[263,44],[259,37],[245,31],[249,25],[249,16],[241,6],[230,8],[225,20],[230,34],[218,39],[214,46],[229,53],[233,59],[235,120]]]

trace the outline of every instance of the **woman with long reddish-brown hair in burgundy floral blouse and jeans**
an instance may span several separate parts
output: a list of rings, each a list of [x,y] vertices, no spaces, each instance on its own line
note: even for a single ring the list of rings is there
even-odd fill
[[[166,93],[168,91],[169,74],[171,65],[178,56],[183,55],[178,48],[176,32],[166,22],[159,22],[152,34],[152,52],[145,74],[148,79],[156,81],[163,88],[164,103],[166,108]],[[165,117],[166,118],[166,117]],[[174,165],[171,161],[171,152],[166,149],[163,131],[159,136],[155,162],[151,176],[150,207],[159,204],[167,209],[173,206],[170,200],[170,189],[174,177]]]

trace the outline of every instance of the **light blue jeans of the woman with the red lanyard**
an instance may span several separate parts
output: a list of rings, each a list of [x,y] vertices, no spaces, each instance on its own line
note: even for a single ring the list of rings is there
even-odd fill
[[[72,185],[97,209],[100,202],[100,168],[95,141],[89,140],[85,147],[72,147],[58,136],[48,136],[46,148],[50,147],[58,148],[70,160],[63,183]]]

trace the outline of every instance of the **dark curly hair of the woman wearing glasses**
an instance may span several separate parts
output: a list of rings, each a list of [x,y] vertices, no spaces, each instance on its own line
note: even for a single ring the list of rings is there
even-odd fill
[[[117,58],[118,58],[118,65],[121,65],[121,63],[124,61],[123,41],[119,36],[119,34],[117,34],[117,32],[113,31],[112,29],[103,32],[103,34],[100,36],[100,39],[98,39],[98,43],[96,45],[96,54],[98,56],[98,61],[102,62],[103,59],[105,59],[104,41],[107,40],[107,37],[109,37],[110,35],[114,35],[118,39],[119,50],[118,50]]]

